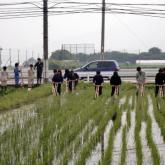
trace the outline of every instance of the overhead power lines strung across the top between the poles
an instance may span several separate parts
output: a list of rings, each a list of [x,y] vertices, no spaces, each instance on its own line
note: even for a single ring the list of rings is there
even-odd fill
[[[40,1],[41,2],[41,1]],[[22,3],[0,3],[0,19],[14,19],[14,18],[31,18],[40,17],[43,15],[43,8],[36,5],[39,1],[22,2]],[[54,2],[55,3],[55,2]],[[106,14],[130,14],[148,17],[164,18],[165,10],[153,8],[153,6],[165,6],[165,4],[128,4],[128,3],[107,3],[110,5],[105,8]],[[8,7],[9,5],[16,5],[16,7]],[[22,7],[18,7],[23,5]],[[28,6],[26,6],[28,5]],[[35,7],[30,7],[33,5]],[[49,7],[48,14],[66,15],[79,13],[101,13],[101,3],[89,2],[74,2],[74,1],[60,1]],[[4,7],[7,6],[7,7]],[[144,6],[147,6],[144,7]],[[149,8],[151,7],[152,8]],[[3,7],[3,8],[2,8]]]

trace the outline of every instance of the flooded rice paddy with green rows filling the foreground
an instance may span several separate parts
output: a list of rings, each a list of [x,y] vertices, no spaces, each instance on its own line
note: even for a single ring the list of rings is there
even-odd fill
[[[63,87],[63,91],[64,91]],[[0,165],[165,165],[165,99],[123,84],[51,94],[43,85],[0,96]]]

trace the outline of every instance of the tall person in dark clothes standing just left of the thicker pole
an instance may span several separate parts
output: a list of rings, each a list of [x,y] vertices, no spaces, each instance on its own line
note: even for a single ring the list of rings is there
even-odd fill
[[[34,69],[37,68],[37,84],[39,85],[39,84],[41,84],[44,65],[40,58],[38,58],[37,60],[38,60],[37,63],[34,65]]]

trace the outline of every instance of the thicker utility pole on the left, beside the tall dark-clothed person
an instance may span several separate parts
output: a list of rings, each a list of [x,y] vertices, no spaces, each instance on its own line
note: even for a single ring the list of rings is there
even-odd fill
[[[48,0],[43,0],[44,82],[48,82]]]

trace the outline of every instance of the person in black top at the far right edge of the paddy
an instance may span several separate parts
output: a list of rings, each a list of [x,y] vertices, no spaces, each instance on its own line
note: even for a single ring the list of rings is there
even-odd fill
[[[155,97],[157,97],[160,92],[160,96],[163,96],[163,85],[165,83],[165,75],[163,73],[163,69],[159,69],[159,72],[155,76]]]

